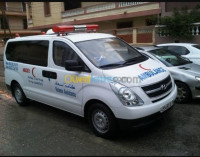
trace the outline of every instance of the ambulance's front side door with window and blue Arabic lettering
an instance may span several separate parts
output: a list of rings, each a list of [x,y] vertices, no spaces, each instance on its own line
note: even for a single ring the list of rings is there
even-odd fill
[[[84,72],[67,71],[66,60],[81,61],[77,53],[66,41],[52,41],[51,72],[56,73],[57,78],[51,79],[51,91],[56,100],[57,107],[69,112],[82,114],[82,82],[79,78],[84,77]]]

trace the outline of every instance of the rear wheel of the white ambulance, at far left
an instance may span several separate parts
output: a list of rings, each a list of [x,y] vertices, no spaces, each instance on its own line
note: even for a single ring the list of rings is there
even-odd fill
[[[12,87],[12,93],[16,102],[20,106],[27,106],[29,104],[29,99],[26,98],[21,86],[18,83],[15,83]]]

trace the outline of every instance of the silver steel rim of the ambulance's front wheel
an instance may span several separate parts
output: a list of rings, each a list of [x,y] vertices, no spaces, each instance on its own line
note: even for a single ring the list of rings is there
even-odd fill
[[[109,130],[109,120],[107,115],[101,111],[96,110],[92,114],[92,123],[97,131],[106,133]]]

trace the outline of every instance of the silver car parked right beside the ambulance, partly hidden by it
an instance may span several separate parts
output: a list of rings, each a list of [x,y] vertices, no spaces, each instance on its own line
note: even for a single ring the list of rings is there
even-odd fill
[[[186,103],[190,98],[200,98],[200,65],[194,64],[189,59],[160,47],[135,48],[167,66],[178,87],[177,103]]]

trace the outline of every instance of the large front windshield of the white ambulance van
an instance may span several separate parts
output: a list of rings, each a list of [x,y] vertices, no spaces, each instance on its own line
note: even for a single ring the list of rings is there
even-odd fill
[[[134,60],[133,64],[148,58],[118,38],[103,38],[77,42],[76,46],[97,67],[118,66]],[[123,64],[125,66],[125,64]]]

